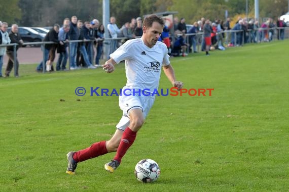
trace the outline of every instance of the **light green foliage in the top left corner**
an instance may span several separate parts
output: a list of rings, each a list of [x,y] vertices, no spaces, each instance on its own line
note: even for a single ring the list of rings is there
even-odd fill
[[[19,0],[0,1],[0,20],[9,25],[21,19],[21,11],[18,7]]]

